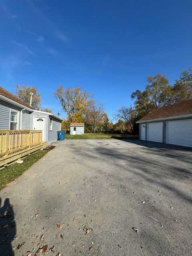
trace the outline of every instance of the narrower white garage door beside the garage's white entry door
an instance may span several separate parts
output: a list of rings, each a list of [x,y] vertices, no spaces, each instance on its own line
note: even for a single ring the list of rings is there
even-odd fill
[[[147,124],[147,140],[163,142],[163,122]]]

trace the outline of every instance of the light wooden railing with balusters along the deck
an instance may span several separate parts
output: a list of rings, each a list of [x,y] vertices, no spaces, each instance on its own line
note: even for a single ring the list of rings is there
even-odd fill
[[[42,144],[42,131],[0,130],[0,159]]]

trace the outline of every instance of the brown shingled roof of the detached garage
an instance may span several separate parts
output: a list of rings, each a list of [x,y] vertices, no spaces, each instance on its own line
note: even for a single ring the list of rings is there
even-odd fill
[[[185,115],[192,115],[192,100],[186,100],[164,108],[158,108],[137,122]]]

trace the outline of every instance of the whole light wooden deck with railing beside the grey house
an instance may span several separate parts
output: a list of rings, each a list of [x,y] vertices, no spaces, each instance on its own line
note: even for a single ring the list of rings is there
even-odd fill
[[[0,130],[0,170],[46,145],[39,130]]]

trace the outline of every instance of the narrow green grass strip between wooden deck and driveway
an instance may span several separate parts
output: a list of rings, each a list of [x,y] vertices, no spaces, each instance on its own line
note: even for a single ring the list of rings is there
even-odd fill
[[[26,158],[23,158],[22,164],[12,164],[2,170],[0,170],[0,190],[2,190],[7,184],[18,178],[23,172],[30,168],[40,158],[45,156],[49,150],[39,150]]]

